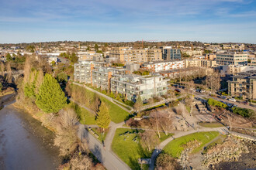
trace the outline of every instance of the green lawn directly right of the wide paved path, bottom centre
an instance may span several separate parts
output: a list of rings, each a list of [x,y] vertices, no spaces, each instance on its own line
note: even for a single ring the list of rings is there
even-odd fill
[[[131,134],[124,134],[127,131]],[[132,169],[140,169],[138,158],[150,158],[150,152],[140,145],[137,132],[137,130],[118,128],[112,141],[112,151]],[[137,142],[133,141],[136,137]]]

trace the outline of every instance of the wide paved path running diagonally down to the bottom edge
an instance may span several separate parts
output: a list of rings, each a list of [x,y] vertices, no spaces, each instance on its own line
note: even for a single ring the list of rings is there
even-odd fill
[[[107,169],[111,170],[128,170],[130,167],[122,162],[112,151],[103,148],[101,142],[99,142],[92,134],[86,130],[84,124],[79,124],[78,137],[82,142],[88,143],[88,148],[92,151],[92,154],[104,165]]]

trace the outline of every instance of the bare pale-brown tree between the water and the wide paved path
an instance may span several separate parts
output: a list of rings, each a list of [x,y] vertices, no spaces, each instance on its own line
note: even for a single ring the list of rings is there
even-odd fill
[[[56,124],[54,145],[60,148],[60,155],[70,155],[78,147],[78,116],[74,110],[61,110]]]

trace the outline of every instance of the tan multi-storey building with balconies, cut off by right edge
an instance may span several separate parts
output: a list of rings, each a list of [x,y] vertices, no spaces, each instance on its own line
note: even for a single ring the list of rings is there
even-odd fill
[[[232,97],[256,100],[256,71],[237,73],[228,81],[228,93]]]

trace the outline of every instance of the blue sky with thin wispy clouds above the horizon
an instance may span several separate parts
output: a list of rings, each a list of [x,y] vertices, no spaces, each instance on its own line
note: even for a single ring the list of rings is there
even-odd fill
[[[256,0],[0,0],[0,43],[256,43]]]

